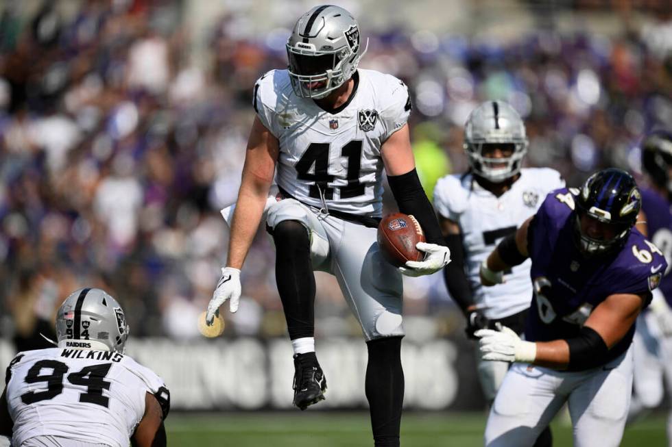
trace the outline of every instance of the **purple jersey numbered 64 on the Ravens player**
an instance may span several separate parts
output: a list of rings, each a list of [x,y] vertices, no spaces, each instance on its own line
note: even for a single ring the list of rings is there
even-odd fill
[[[528,233],[534,286],[525,337],[546,342],[578,335],[592,309],[613,294],[651,294],[667,268],[656,246],[632,228],[616,253],[584,257],[575,244],[577,190],[551,192]],[[647,303],[648,304],[648,303]],[[602,363],[627,350],[634,325]]]

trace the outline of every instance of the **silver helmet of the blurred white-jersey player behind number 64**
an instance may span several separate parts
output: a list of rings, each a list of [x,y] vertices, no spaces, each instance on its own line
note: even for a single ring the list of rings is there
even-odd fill
[[[512,144],[510,157],[483,156],[485,144]],[[518,112],[504,101],[485,101],[467,119],[464,127],[464,150],[469,166],[480,177],[499,183],[520,172],[527,153],[525,124]]]

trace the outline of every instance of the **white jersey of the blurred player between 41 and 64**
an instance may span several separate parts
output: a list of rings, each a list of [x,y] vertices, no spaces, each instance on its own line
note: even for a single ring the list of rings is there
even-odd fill
[[[466,272],[474,301],[490,319],[527,309],[532,299],[531,261],[505,272],[505,283],[483,287],[479,266],[505,236],[537,212],[549,192],[564,188],[560,173],[550,168],[523,168],[510,190],[497,197],[483,189],[472,174],[448,175],[434,189],[437,212],[457,222],[462,231]]]

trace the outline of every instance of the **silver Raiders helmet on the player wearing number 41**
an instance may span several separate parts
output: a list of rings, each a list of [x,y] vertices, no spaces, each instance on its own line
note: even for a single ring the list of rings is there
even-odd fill
[[[287,40],[287,71],[294,92],[302,98],[326,97],[352,77],[365,52],[350,12],[315,6],[298,19]]]

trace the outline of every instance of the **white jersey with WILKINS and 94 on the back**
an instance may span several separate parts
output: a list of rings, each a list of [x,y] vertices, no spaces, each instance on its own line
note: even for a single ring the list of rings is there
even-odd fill
[[[145,413],[147,392],[167,411],[163,380],[120,353],[69,348],[19,353],[7,368],[12,445],[51,435],[127,447]]]

